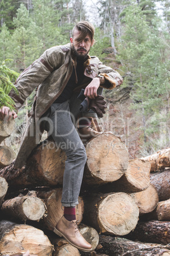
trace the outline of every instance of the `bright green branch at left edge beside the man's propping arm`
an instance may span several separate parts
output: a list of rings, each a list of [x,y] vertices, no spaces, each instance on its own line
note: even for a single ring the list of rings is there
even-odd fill
[[[17,93],[17,90],[12,82],[16,80],[18,73],[6,66],[5,62],[8,60],[11,59],[4,60],[0,66],[0,108],[2,106],[8,106],[10,109],[13,109],[14,102],[8,96],[8,94],[10,93],[11,89],[14,89]]]

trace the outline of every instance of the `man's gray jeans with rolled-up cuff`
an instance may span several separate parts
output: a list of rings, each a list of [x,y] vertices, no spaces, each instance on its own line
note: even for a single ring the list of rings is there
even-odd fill
[[[52,104],[48,116],[52,122],[50,126],[53,127],[49,134],[67,155],[62,190],[62,205],[67,207],[78,204],[84,165],[87,160],[86,149],[75,129],[77,117],[80,115],[80,104],[81,101],[74,94],[64,103]],[[96,117],[96,113],[89,110],[81,113],[81,117]]]

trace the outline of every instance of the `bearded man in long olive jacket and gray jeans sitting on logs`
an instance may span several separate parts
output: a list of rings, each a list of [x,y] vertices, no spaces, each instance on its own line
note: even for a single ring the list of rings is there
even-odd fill
[[[84,96],[93,101],[98,98],[103,88],[113,89],[122,83],[122,77],[117,71],[103,65],[97,57],[88,55],[94,44],[94,31],[89,22],[79,22],[72,31],[70,43],[46,50],[16,80],[19,94],[10,92],[18,109],[32,90],[38,87],[15,167],[21,168],[25,164],[32,149],[41,139],[41,130],[48,129],[55,143],[62,145],[67,155],[62,192],[64,214],[56,224],[54,232],[86,252],[91,250],[91,245],[82,238],[75,220],[75,206],[78,204],[86,163],[86,150],[81,138],[90,139],[99,132],[90,127],[91,118],[96,117],[96,113],[91,110],[80,113],[81,100],[77,96],[84,89]],[[7,116],[16,118],[17,114],[3,107],[0,117],[4,119]],[[79,133],[75,127],[77,118]],[[41,124],[44,124],[43,129]]]

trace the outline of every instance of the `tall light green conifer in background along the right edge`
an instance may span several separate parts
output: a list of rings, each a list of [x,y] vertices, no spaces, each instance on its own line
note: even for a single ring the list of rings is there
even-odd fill
[[[124,87],[131,87],[131,108],[143,118],[145,148],[150,148],[150,134],[157,131],[157,124],[150,122],[153,115],[164,110],[168,103],[169,59],[166,38],[160,36],[159,20],[152,22],[150,27],[146,16],[139,6],[130,6],[124,17],[122,43],[119,47],[119,60],[127,74]],[[164,61],[162,61],[164,60]],[[129,76],[128,76],[129,74]],[[163,111],[164,113],[164,111]],[[163,116],[163,114],[162,114]],[[160,120],[157,120],[159,123]],[[152,124],[152,129],[146,124]],[[147,138],[147,139],[146,139]]]

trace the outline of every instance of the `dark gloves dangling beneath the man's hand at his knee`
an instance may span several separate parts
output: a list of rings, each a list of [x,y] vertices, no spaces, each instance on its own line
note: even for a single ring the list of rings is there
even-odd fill
[[[79,108],[80,112],[88,111],[91,109],[95,111],[98,117],[103,117],[103,114],[105,114],[105,108],[107,108],[107,106],[103,96],[98,95],[95,97],[95,99],[89,99],[88,97],[84,96],[84,89],[82,89],[78,99],[82,100],[81,106]]]

